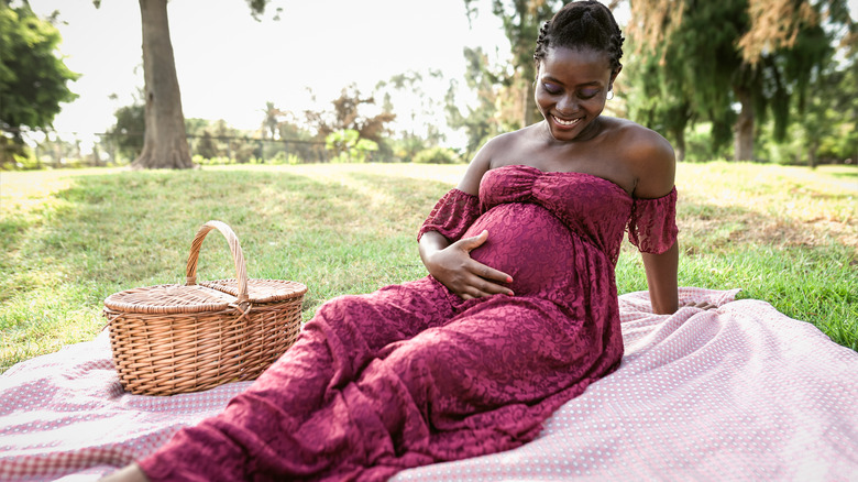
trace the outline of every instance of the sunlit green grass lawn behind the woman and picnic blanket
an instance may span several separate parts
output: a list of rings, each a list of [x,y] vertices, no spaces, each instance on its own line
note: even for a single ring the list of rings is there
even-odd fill
[[[241,239],[252,277],[296,280],[304,318],[326,299],[426,274],[415,234],[465,166],[230,166],[0,174],[0,372],[95,337],[111,293],[183,283],[199,224]],[[682,164],[680,285],[743,288],[858,349],[856,169]],[[200,278],[233,276],[211,232]],[[646,289],[626,244],[620,293]]]

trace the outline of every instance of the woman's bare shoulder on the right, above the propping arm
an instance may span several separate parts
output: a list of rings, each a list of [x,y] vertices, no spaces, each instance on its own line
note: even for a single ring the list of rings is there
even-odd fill
[[[618,157],[635,176],[634,196],[657,198],[673,188],[676,157],[658,132],[625,119],[614,119]]]

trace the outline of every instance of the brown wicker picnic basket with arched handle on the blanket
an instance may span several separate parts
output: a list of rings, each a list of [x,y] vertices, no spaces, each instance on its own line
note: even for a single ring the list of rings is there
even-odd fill
[[[226,238],[235,280],[197,284],[197,259],[212,229]],[[125,391],[139,395],[198,392],[255,380],[295,341],[307,287],[248,280],[239,239],[209,221],[190,247],[186,285],[114,293],[105,299],[110,346]]]

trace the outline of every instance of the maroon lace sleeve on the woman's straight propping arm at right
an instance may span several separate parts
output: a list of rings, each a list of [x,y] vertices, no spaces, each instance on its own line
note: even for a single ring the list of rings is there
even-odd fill
[[[628,221],[628,240],[642,253],[661,254],[675,242],[676,188],[654,199],[635,199]]]

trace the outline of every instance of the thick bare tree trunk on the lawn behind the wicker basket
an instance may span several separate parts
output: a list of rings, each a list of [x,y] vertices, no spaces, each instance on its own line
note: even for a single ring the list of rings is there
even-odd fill
[[[169,41],[167,0],[140,0],[143,20],[143,76],[146,83],[146,131],[135,168],[194,167],[185,133],[185,116],[173,44]]]

